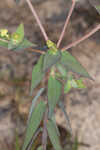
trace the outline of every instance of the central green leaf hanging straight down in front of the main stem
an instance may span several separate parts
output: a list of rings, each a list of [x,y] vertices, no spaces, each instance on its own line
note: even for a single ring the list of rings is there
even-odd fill
[[[48,80],[48,105],[49,117],[52,117],[56,104],[61,95],[61,83],[55,77],[50,76]]]

